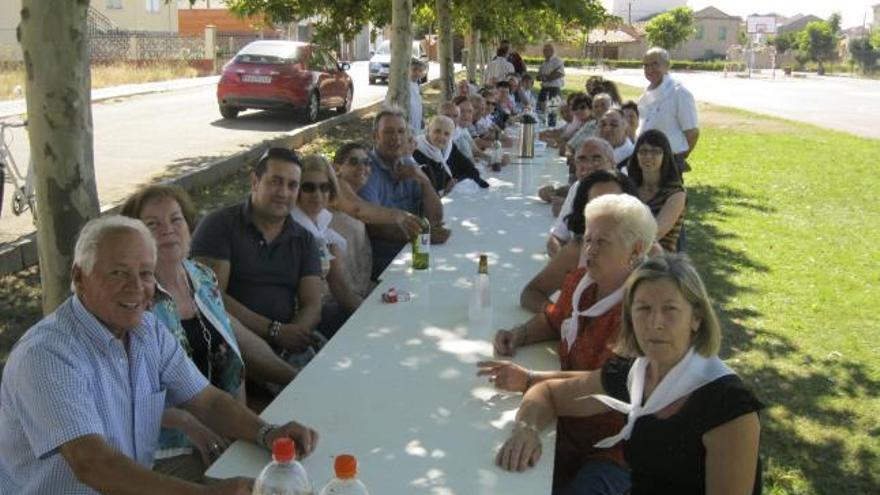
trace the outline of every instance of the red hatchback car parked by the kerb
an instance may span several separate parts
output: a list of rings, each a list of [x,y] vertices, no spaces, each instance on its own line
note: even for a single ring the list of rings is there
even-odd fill
[[[354,86],[340,64],[318,45],[297,41],[249,43],[223,67],[217,84],[220,115],[234,119],[248,108],[296,109],[308,122],[323,109],[351,109]]]

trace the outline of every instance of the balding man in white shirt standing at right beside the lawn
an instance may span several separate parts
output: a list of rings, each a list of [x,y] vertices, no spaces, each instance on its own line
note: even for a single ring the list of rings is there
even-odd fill
[[[639,134],[657,129],[669,139],[679,170],[690,170],[687,158],[697,146],[697,105],[694,96],[669,76],[669,52],[654,47],[642,60],[648,89],[639,98]]]

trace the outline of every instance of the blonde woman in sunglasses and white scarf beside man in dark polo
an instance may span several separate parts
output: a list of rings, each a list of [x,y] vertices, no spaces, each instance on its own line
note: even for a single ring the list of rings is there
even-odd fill
[[[338,190],[336,176],[326,158],[320,155],[303,158],[299,196],[291,216],[318,242],[323,279],[318,329],[327,338],[336,333],[364,300],[352,291],[343,273],[348,242],[330,227],[333,213],[328,206],[336,200]]]

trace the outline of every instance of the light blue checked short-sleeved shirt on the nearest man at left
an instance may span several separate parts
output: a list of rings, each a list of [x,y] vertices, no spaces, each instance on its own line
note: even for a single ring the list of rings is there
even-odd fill
[[[22,336],[0,384],[0,493],[96,493],[59,450],[85,435],[152,466],[166,404],[208,383],[151,313],[128,335],[126,352],[72,296]]]

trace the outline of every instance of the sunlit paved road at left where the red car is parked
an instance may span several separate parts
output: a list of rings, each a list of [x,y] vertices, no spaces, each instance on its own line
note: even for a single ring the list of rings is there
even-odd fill
[[[431,65],[429,76],[438,77],[439,66]],[[386,86],[369,85],[367,62],[353,63],[349,73],[355,84],[355,108],[385,96]],[[209,158],[227,156],[300,125],[294,115],[263,111],[222,120],[215,81],[209,78],[199,87],[93,105],[95,175],[102,207],[119,202],[152,178],[179,174]],[[15,132],[12,138],[16,160],[26,164],[30,155],[27,133]],[[9,184],[5,187],[0,243],[33,231],[29,214],[12,215],[12,189]]]

